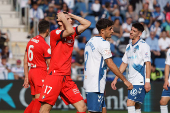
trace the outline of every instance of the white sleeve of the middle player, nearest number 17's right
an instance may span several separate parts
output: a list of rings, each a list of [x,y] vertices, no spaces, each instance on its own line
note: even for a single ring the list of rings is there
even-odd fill
[[[103,41],[103,43],[100,44],[99,46],[99,52],[104,60],[112,57],[112,53],[110,50],[110,43],[108,41]]]

